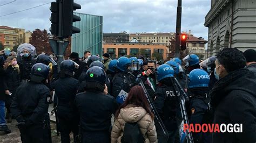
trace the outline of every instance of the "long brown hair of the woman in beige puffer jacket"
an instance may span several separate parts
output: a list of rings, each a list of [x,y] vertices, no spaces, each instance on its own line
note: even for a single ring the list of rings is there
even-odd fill
[[[152,113],[150,109],[149,102],[147,102],[147,98],[145,96],[144,90],[139,85],[136,85],[131,88],[125,102],[119,107],[119,109],[116,112],[115,118],[118,117],[120,110],[122,108],[125,108],[128,104],[133,104],[136,106],[141,106],[146,110],[147,113],[150,114],[152,120],[154,119],[154,114]]]

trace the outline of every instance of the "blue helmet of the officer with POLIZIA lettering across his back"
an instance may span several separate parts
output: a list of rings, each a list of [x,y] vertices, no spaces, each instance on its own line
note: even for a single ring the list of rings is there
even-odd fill
[[[174,71],[170,65],[163,64],[157,68],[157,80],[161,81],[166,77],[173,77]]]

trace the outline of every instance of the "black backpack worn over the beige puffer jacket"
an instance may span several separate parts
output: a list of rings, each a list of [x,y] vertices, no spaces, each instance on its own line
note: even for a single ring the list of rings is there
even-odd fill
[[[145,142],[143,134],[140,132],[137,123],[125,123],[122,143],[142,143]]]

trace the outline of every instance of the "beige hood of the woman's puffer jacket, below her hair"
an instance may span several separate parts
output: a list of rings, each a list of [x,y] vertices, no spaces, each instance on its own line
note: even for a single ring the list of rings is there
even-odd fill
[[[144,108],[129,104],[120,110],[119,115],[125,122],[135,123],[142,119],[146,113],[147,112]]]

